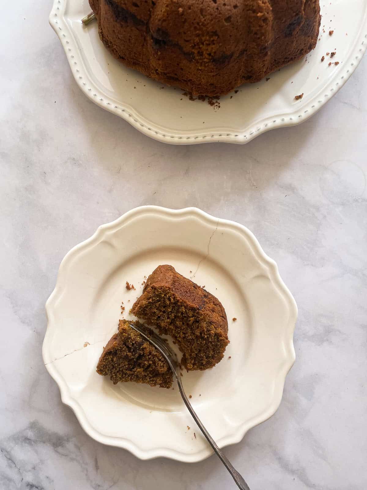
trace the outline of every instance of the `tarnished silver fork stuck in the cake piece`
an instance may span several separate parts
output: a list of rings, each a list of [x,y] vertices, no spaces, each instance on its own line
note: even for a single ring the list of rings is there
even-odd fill
[[[250,487],[247,485],[245,480],[242,478],[242,476],[238,473],[238,471],[231,465],[229,459],[222,453],[222,451],[219,449],[217,444],[215,443],[214,439],[210,436],[204,425],[202,424],[200,418],[196,415],[194,409],[191,406],[191,403],[188,401],[188,398],[184,392],[184,387],[182,386],[182,381],[181,381],[181,374],[180,374],[180,368],[179,368],[179,363],[177,361],[176,354],[172,352],[172,350],[169,348],[168,344],[163,342],[161,337],[153,333],[152,335],[147,334],[142,330],[140,327],[137,327],[134,325],[134,323],[130,323],[129,325],[134,328],[139,334],[144,337],[148,342],[153,344],[160,352],[163,354],[164,358],[166,359],[169,367],[172,369],[173,375],[176,378],[177,384],[179,385],[179,390],[182,396],[182,399],[184,400],[184,404],[186,405],[188,411],[194,418],[195,422],[197,423],[199,429],[202,431],[204,434],[206,440],[209,442],[211,447],[214,449],[214,452],[219,456],[219,458],[222,460],[222,463],[226,468],[228,469],[229,473],[231,474],[233,480],[235,481],[236,485],[238,488],[241,490],[250,490]]]

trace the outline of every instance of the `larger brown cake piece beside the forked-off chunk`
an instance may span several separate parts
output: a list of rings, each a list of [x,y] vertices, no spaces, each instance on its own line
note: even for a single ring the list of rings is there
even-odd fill
[[[131,312],[172,336],[187,370],[212,368],[223,358],[229,340],[222,304],[172,266],[152,272]]]

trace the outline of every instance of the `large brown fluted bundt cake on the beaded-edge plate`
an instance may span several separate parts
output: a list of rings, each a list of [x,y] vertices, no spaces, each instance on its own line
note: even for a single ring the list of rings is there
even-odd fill
[[[257,82],[314,49],[319,0],[89,0],[107,49],[194,95]]]

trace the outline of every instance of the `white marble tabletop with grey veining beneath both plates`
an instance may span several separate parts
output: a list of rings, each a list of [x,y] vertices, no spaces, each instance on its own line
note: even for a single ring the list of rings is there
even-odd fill
[[[84,97],[49,9],[1,11],[0,489],[234,488],[214,456],[142,462],[93,441],[43,366],[61,259],[141,204],[245,224],[298,302],[281,406],[225,450],[251,489],[366,489],[367,58],[306,123],[242,147],[173,147]]]

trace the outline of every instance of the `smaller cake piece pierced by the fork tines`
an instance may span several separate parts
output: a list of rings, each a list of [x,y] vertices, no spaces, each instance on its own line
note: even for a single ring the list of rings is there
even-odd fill
[[[138,321],[133,323],[147,333],[152,332]],[[103,349],[97,373],[110,376],[114,385],[119,381],[134,381],[161,388],[172,386],[172,371],[161,352],[134,330],[127,320],[119,321],[118,332]]]

